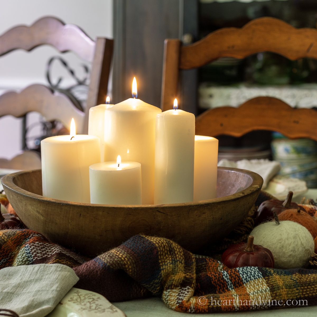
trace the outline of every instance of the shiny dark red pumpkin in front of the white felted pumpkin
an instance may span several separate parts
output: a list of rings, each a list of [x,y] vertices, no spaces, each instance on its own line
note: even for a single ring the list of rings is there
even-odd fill
[[[253,244],[254,237],[249,236],[248,243],[232,244],[223,252],[221,262],[228,268],[242,266],[261,266],[274,268],[272,252],[262,245]]]

